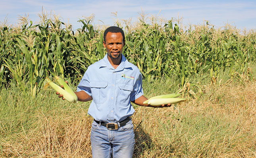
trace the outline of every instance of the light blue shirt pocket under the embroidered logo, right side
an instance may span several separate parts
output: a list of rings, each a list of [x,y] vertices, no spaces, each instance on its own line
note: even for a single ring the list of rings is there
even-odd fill
[[[117,105],[129,105],[132,91],[133,86],[131,85],[118,85]]]

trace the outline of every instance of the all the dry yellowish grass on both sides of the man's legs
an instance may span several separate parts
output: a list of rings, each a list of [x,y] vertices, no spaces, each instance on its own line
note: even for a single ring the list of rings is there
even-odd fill
[[[255,100],[255,81],[231,81],[206,85],[200,99],[189,98],[180,111],[137,107],[134,157],[255,158]],[[83,109],[38,111],[37,128],[2,139],[0,157],[89,158],[91,122]]]

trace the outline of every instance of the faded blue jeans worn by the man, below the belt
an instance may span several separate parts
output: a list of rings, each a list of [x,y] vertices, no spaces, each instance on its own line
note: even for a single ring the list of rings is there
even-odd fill
[[[119,125],[119,123],[118,123]],[[90,134],[93,158],[132,158],[135,144],[133,123],[130,120],[118,130],[108,130],[95,121]]]

